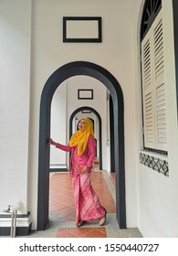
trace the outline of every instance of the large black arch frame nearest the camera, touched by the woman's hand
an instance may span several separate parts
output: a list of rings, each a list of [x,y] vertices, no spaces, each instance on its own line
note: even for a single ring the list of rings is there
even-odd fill
[[[38,155],[38,194],[37,229],[44,230],[48,221],[49,197],[49,144],[50,108],[54,92],[58,86],[70,77],[86,75],[99,80],[110,91],[113,101],[114,123],[114,161],[116,172],[116,207],[120,229],[126,228],[125,208],[125,165],[124,165],[124,117],[123,95],[119,82],[103,69],[87,61],[70,62],[57,69],[47,80],[41,95],[39,117],[39,155]]]

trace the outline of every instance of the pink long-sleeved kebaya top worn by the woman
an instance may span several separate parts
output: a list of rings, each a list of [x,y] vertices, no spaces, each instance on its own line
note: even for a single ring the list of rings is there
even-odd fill
[[[85,166],[88,167],[88,172],[91,171],[91,167],[95,158],[95,140],[93,136],[89,135],[87,147],[82,155],[78,155],[78,146],[71,147],[69,144],[57,144],[56,147],[66,152],[71,151],[69,167],[71,175],[82,174],[82,169]]]

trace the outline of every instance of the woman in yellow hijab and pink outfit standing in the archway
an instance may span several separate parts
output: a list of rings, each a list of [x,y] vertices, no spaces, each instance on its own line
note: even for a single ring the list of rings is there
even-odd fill
[[[106,221],[106,209],[100,205],[99,197],[91,186],[91,167],[95,158],[95,140],[93,123],[88,117],[79,121],[79,131],[73,133],[69,144],[49,143],[57,148],[69,152],[70,174],[75,198],[76,225],[80,227],[86,220],[99,219],[99,225]]]

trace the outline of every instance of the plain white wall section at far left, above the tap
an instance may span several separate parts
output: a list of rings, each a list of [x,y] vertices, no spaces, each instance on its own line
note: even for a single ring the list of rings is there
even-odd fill
[[[0,2],[0,213],[26,213],[31,1]]]

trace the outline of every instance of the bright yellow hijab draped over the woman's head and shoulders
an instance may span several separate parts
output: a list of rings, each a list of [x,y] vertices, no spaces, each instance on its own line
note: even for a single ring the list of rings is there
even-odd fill
[[[72,147],[78,145],[78,155],[84,153],[88,144],[89,135],[94,137],[92,121],[88,117],[83,117],[82,119],[85,120],[85,130],[79,130],[73,133],[69,141],[69,145]]]

